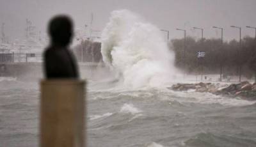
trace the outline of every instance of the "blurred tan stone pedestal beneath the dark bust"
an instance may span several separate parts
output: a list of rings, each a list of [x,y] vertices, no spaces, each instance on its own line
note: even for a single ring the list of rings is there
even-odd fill
[[[40,146],[84,146],[85,82],[41,81]]]

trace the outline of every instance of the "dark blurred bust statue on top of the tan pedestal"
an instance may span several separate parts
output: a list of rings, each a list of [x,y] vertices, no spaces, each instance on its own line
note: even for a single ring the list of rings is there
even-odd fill
[[[44,52],[44,74],[47,79],[78,78],[77,63],[68,50],[72,40],[72,20],[65,15],[58,15],[49,22],[48,33],[51,44]]]

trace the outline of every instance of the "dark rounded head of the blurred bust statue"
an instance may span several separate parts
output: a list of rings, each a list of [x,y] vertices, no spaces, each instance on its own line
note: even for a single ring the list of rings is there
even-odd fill
[[[67,15],[53,17],[48,25],[48,33],[53,45],[67,46],[73,35],[73,23]]]

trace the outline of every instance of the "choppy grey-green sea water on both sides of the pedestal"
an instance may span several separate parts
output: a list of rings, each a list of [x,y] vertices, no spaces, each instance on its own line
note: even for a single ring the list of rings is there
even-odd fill
[[[256,146],[255,102],[89,83],[88,146]],[[0,79],[0,146],[38,146],[39,94],[36,82]]]

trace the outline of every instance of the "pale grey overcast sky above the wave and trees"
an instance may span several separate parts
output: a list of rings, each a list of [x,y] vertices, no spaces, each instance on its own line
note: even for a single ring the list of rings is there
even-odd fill
[[[70,15],[75,27],[84,29],[93,13],[93,29],[102,30],[113,10],[126,9],[170,31],[170,39],[183,37],[176,28],[199,39],[201,32],[193,27],[204,28],[204,38],[220,38],[220,31],[212,28],[218,26],[227,41],[239,40],[239,30],[230,26],[242,27],[242,36],[255,36],[255,30],[246,28],[256,27],[255,7],[255,0],[0,0],[0,25],[5,24],[6,36],[14,40],[24,38],[26,19],[45,33],[54,15]]]

